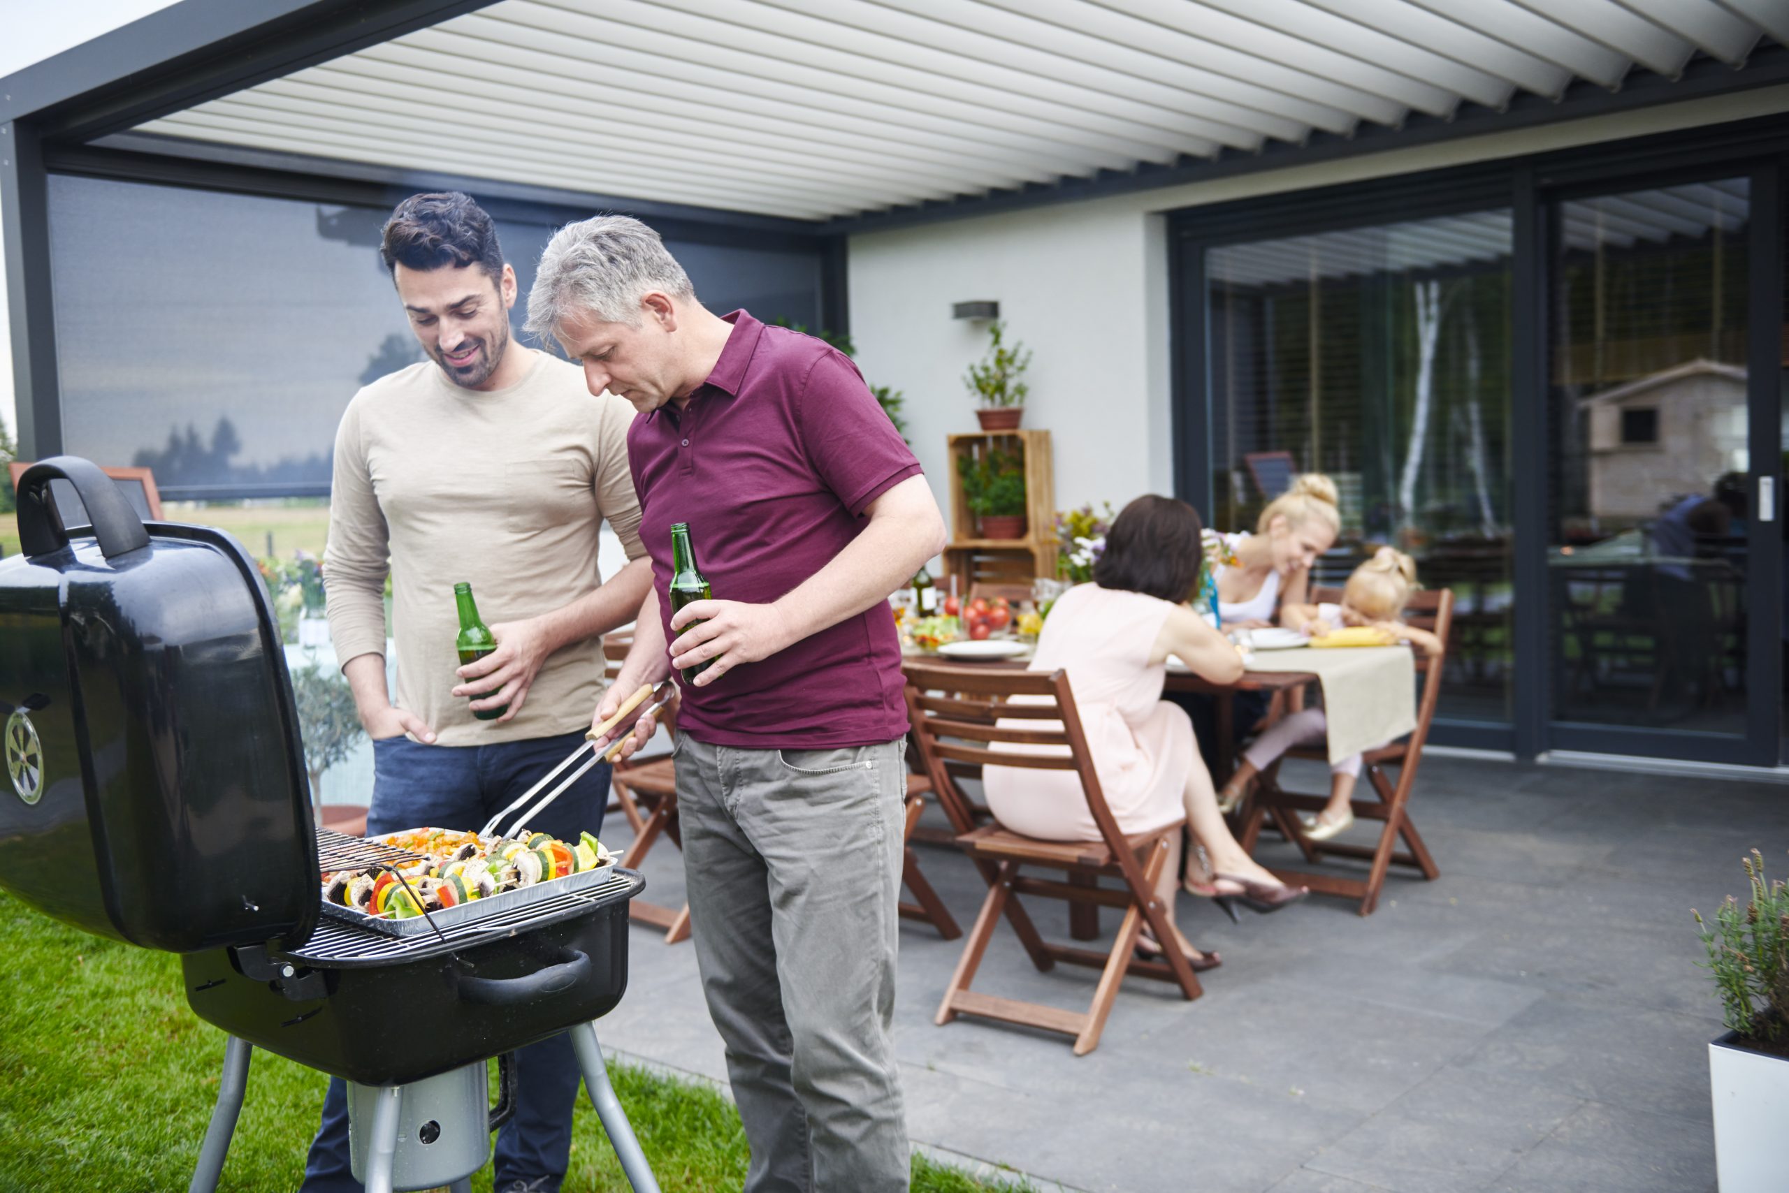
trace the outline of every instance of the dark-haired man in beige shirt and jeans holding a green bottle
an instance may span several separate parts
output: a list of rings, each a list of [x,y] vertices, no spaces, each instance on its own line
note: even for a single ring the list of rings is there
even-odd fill
[[[336,431],[324,583],[336,658],[374,742],[369,833],[478,828],[581,739],[603,689],[601,635],[633,621],[651,567],[628,472],[633,408],[515,343],[515,272],[465,195],[413,195],[381,256],[429,360],[363,388]],[[598,574],[603,520],[630,563]],[[386,690],[392,576],[397,699]],[[469,581],[497,649],[462,667],[453,587]],[[503,708],[492,721],[474,710]],[[599,832],[608,766],[531,828]],[[504,825],[510,828],[510,825]],[[571,1154],[571,1043],[519,1053],[515,1120],[497,1136],[499,1193],[555,1193]],[[329,1082],[304,1193],[360,1193],[347,1096]]]

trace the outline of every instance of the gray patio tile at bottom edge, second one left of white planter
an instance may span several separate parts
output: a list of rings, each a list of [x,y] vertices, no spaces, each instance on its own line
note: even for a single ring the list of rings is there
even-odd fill
[[[1478,1193],[1580,1107],[1519,1077],[1444,1068],[1306,1168],[1392,1193]]]

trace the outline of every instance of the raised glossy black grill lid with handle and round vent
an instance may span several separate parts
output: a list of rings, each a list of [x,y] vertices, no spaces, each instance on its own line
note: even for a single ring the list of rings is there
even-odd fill
[[[50,481],[73,485],[70,531]],[[0,560],[0,885],[75,926],[193,952],[308,939],[309,783],[272,601],[202,526],[145,526],[95,465],[18,485]]]

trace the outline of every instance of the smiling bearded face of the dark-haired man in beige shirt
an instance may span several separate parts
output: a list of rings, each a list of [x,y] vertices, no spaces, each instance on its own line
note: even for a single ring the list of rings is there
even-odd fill
[[[399,263],[394,281],[422,351],[454,385],[485,388],[510,347],[515,270],[504,265],[492,281],[478,265],[413,270]]]

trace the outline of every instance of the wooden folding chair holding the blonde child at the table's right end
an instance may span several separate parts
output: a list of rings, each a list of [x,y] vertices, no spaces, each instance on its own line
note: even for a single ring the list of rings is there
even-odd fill
[[[1313,605],[1326,601],[1340,603],[1342,590],[1311,590]],[[1453,628],[1453,601],[1454,596],[1451,588],[1413,592],[1404,608],[1404,622],[1417,626],[1419,630],[1429,630],[1446,644],[1447,633]],[[1379,889],[1385,885],[1385,875],[1394,864],[1417,869],[1431,882],[1438,878],[1442,871],[1435,866],[1429,848],[1422,842],[1422,833],[1419,833],[1417,826],[1410,823],[1410,792],[1417,783],[1417,767],[1422,764],[1422,744],[1429,737],[1429,723],[1435,719],[1435,703],[1442,694],[1442,664],[1446,658],[1446,651],[1435,656],[1417,651],[1417,674],[1422,676],[1422,696],[1417,705],[1415,732],[1401,742],[1369,749],[1363,755],[1361,769],[1365,771],[1367,783],[1376,798],[1360,798],[1360,789],[1356,789],[1356,798],[1352,801],[1354,817],[1363,821],[1379,821],[1378,842],[1372,846],[1360,846],[1338,841],[1311,841],[1306,837],[1304,825],[1299,821],[1299,812],[1318,812],[1324,803],[1327,803],[1327,798],[1283,789],[1279,785],[1279,760],[1276,760],[1274,766],[1267,767],[1256,780],[1256,787],[1242,808],[1242,848],[1252,853],[1261,833],[1261,823],[1267,817],[1272,817],[1274,826],[1279,828],[1288,841],[1299,846],[1299,851],[1304,853],[1304,860],[1308,864],[1315,866],[1322,862],[1326,855],[1369,862],[1365,878],[1338,875],[1333,871],[1301,873],[1274,869],[1279,878],[1306,885],[1311,891],[1360,900],[1361,916],[1370,916],[1372,909],[1378,907]],[[1286,757],[1313,758],[1318,762],[1329,760],[1329,753],[1322,746],[1290,749],[1286,751]],[[1386,767],[1394,766],[1397,767],[1395,782],[1386,774]],[[1403,850],[1397,848],[1399,841],[1404,842]]]

